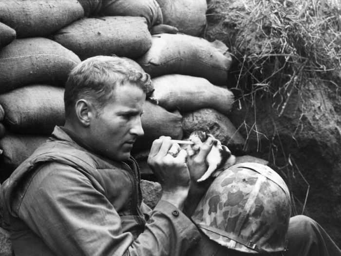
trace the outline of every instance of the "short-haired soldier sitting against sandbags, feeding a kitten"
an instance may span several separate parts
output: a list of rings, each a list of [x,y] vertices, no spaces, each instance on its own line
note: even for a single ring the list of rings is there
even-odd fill
[[[200,233],[183,213],[191,216],[195,198],[210,185],[209,181],[195,181],[207,170],[211,138],[202,144],[198,155],[187,160],[184,150],[176,157],[168,154],[173,144],[170,138],[156,139],[148,162],[162,186],[162,197],[152,210],[143,203],[139,168],[130,153],[136,138],[143,135],[140,117],[150,84],[147,74],[118,57],[89,58],[71,71],[64,94],[65,125],[55,127],[51,138],[0,187],[1,215],[16,256],[207,256],[238,252],[241,247],[231,250],[230,245],[224,247]],[[263,216],[261,208],[257,209]],[[281,218],[282,226],[287,225],[287,211],[283,213],[285,221]],[[194,214],[196,221],[200,220],[199,212],[197,209]],[[225,212],[223,217],[235,217]],[[220,212],[215,214],[218,217]],[[289,252],[341,255],[331,239],[321,235],[325,234],[322,229],[315,229],[310,219],[302,220],[289,222]],[[199,224],[203,227],[205,223]],[[282,226],[279,232],[284,235]],[[290,239],[294,241],[290,243]],[[316,250],[322,243],[327,248]],[[263,243],[255,244],[268,250]]]

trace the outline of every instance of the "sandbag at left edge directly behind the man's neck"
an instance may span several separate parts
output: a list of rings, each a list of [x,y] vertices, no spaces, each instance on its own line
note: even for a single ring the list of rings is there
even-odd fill
[[[16,133],[51,134],[55,125],[65,121],[63,97],[64,88],[50,85],[30,85],[1,94],[6,113],[3,122]]]

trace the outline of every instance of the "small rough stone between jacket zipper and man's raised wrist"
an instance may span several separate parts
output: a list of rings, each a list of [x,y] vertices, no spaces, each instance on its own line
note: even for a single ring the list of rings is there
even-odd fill
[[[154,208],[162,193],[160,183],[142,179],[140,185],[144,202]]]

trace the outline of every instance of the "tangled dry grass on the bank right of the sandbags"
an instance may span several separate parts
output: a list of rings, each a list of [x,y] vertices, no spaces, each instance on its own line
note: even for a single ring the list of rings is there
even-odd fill
[[[293,89],[302,89],[305,81],[341,77],[338,1],[239,1],[244,10],[233,14],[237,33],[230,45],[239,61],[236,88],[244,96],[276,97],[281,115]]]

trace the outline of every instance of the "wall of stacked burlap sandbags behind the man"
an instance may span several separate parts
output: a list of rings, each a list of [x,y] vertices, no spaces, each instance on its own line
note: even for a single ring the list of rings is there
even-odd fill
[[[154,91],[142,116],[145,135],[137,140],[134,154],[148,151],[161,135],[181,139],[203,127],[240,147],[244,140],[226,116],[234,100],[227,89],[231,57],[222,42],[200,37],[206,9],[205,0],[1,1],[4,176],[55,125],[63,125],[65,80],[77,63],[97,55],[130,58],[152,77]],[[224,120],[209,121],[217,117]]]

